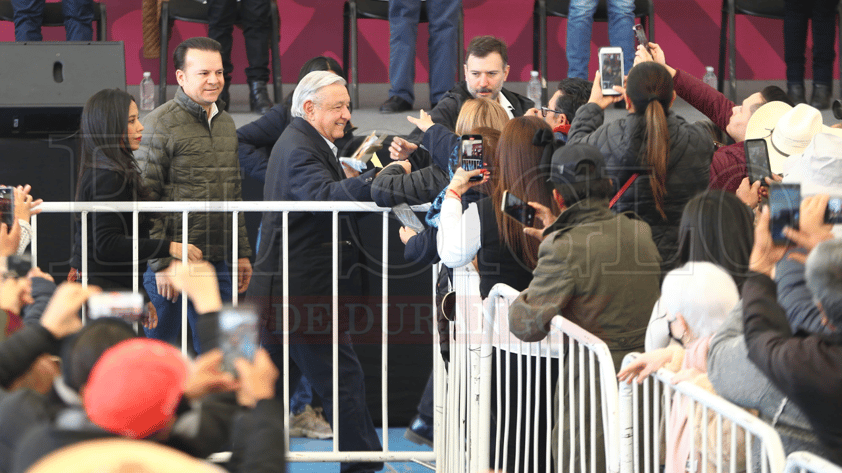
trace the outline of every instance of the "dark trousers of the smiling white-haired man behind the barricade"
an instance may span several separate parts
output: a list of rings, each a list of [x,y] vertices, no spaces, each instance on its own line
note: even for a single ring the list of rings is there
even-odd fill
[[[330,297],[320,300],[307,298],[305,303],[290,302],[291,315],[289,340],[289,382],[291,389],[298,385],[302,375],[322,399],[327,421],[333,426],[333,344],[329,327],[325,323],[331,318]],[[323,306],[323,310],[318,307]],[[315,308],[315,309],[314,309]],[[272,304],[271,319],[261,324],[261,344],[269,352],[272,361],[283,372],[283,317],[282,304]],[[318,312],[318,313],[316,313]],[[340,318],[343,314],[340,311]],[[347,320],[347,314],[345,314]],[[378,451],[383,447],[374,430],[374,422],[368,412],[365,395],[365,375],[357,359],[347,329],[339,334],[339,436],[340,451]],[[283,377],[278,379],[276,396],[283,396]],[[383,468],[383,463],[342,463],[342,473],[370,472]]]

